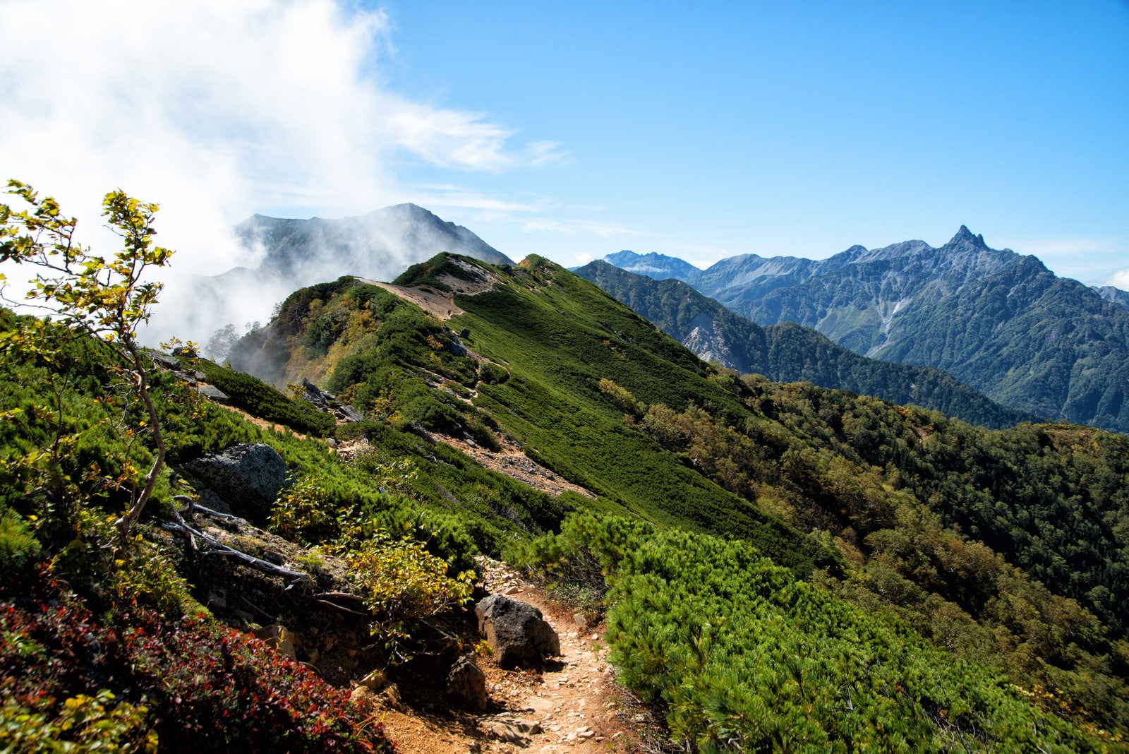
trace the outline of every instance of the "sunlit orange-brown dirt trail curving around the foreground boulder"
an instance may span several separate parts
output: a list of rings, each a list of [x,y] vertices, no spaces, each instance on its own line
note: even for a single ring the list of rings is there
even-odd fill
[[[378,716],[400,751],[415,754],[541,752],[542,754],[648,751],[639,735],[647,720],[615,684],[602,625],[580,625],[505,563],[484,561],[491,593],[536,606],[560,637],[561,657],[539,670],[504,670],[479,657],[487,675],[484,714],[417,714],[388,709]]]

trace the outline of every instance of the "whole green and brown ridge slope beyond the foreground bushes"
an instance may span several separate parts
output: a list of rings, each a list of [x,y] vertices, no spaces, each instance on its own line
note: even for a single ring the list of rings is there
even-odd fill
[[[505,433],[601,496],[570,505],[750,538],[800,575],[838,551],[919,631],[956,635],[977,657],[991,656],[999,631],[1015,647],[1041,641],[1039,626],[1077,610],[1067,598],[1124,635],[1124,437],[989,431],[843,391],[738,379],[544,260],[460,258],[396,281],[408,298],[449,297],[446,321],[342,279],[296,291],[233,362],[275,383],[308,376],[396,427],[484,445]],[[445,278],[453,271],[463,278]],[[1023,597],[1041,605],[1030,625],[1008,607],[1027,589],[1016,568],[1045,585]],[[938,610],[949,617],[933,620]],[[1050,661],[1073,667],[1059,649]],[[1038,651],[1042,673],[1050,649]]]

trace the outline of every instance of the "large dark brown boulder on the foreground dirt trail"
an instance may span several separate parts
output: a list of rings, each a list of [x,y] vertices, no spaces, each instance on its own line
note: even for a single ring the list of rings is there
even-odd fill
[[[493,594],[474,606],[481,633],[501,667],[561,654],[560,638],[533,605]]]

